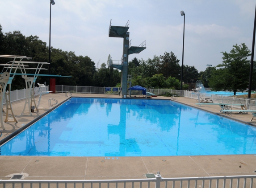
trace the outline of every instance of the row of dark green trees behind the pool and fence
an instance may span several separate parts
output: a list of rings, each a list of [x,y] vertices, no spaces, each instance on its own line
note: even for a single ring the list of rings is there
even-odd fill
[[[0,25],[0,54],[23,55],[32,57],[31,61],[48,62],[49,46],[37,36],[25,37],[20,31],[2,32]],[[245,90],[249,82],[251,55],[248,47],[242,43],[234,45],[230,53],[222,52],[222,63],[215,67],[207,67],[198,72],[194,66],[183,67],[183,89],[189,89],[186,83],[201,80],[205,87],[213,90]],[[107,59],[110,58],[106,57]],[[0,58],[0,63],[6,63],[6,58]],[[63,51],[51,47],[50,73],[54,75],[71,76],[71,78],[56,78],[56,85],[66,86],[121,86],[121,72],[102,63],[99,68],[88,56],[76,56],[75,52]],[[43,68],[49,68],[47,65]],[[33,73],[31,70],[27,73]],[[42,70],[40,74],[48,74]],[[128,64],[128,74],[132,75],[132,86],[180,89],[181,66],[173,52],[154,56],[152,59],[139,60],[134,57]],[[252,87],[256,88],[256,74],[253,74]],[[54,77],[52,77],[54,78]],[[48,84],[48,77],[38,76],[37,82]],[[13,79],[12,90],[25,88],[25,82],[20,76]]]

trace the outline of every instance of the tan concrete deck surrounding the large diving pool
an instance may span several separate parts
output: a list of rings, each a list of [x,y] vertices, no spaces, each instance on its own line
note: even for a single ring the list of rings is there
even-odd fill
[[[72,94],[72,97],[120,98],[108,94]],[[66,100],[65,94],[45,94],[40,102],[39,112],[20,115],[25,100],[13,102],[13,111],[18,123],[4,123],[6,130],[1,139],[10,135],[25,124],[50,110],[49,98],[60,102]],[[171,99],[156,97],[154,99]],[[38,102],[36,98],[36,103]],[[195,105],[196,100],[178,98],[190,106],[219,113],[218,105]],[[5,106],[4,106],[5,109]],[[222,114],[224,115],[224,114]],[[225,116],[225,115],[224,115]],[[4,116],[5,118],[5,113]],[[228,118],[256,125],[249,114],[232,114]],[[147,173],[160,172],[162,177],[198,176],[240,176],[256,175],[255,155],[201,155],[201,156],[160,156],[160,157],[41,157],[41,156],[0,156],[0,179],[9,180],[14,174],[22,174],[25,180],[99,180],[99,179],[138,179]]]

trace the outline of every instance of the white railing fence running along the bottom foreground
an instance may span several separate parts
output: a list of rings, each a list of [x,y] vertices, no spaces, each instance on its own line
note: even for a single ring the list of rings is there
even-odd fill
[[[162,178],[160,174],[152,174],[154,178],[126,180],[0,180],[2,188],[255,188],[256,175]]]

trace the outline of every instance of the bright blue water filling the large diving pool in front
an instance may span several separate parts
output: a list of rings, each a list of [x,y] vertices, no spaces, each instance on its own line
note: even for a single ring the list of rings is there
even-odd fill
[[[169,100],[71,98],[1,155],[256,154],[256,128]]]

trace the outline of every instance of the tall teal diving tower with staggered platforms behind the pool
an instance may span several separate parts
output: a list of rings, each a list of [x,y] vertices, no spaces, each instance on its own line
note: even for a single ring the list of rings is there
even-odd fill
[[[144,49],[146,49],[146,41],[144,41],[139,46],[131,46],[130,40],[130,32],[129,29],[129,20],[126,25],[123,26],[113,26],[109,25],[109,37],[118,37],[123,38],[123,54],[121,59],[121,64],[113,64],[112,59],[109,60],[109,67],[113,67],[122,71],[122,80],[121,80],[121,96],[124,98],[124,95],[127,94],[127,76],[128,76],[128,56],[133,53],[140,53]]]

